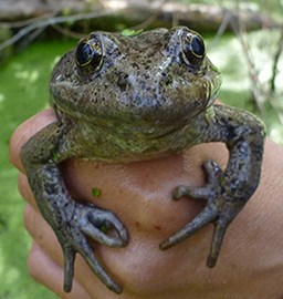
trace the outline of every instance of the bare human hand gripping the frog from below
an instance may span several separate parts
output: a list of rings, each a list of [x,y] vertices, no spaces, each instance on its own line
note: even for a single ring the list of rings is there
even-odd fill
[[[283,298],[283,148],[269,140],[260,186],[230,225],[212,269],[206,267],[212,225],[166,251],[159,244],[205,205],[188,197],[174,202],[172,189],[181,184],[203,185],[206,159],[224,167],[223,144],[202,144],[182,154],[132,164],[64,162],[62,171],[73,197],[114,212],[130,236],[125,248],[94,244],[96,255],[123,286],[122,295],[111,292],[80,256],[73,290],[64,293],[61,247],[38,212],[19,157],[22,144],[54,120],[52,110],[36,114],[14,132],[10,144],[11,162],[20,171],[19,189],[28,202],[24,225],[33,238],[28,266],[36,281],[70,299]],[[102,190],[99,197],[92,195],[94,187]]]

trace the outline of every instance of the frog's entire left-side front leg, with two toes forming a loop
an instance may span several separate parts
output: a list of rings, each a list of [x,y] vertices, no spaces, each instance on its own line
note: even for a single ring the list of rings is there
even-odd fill
[[[59,168],[61,161],[75,155],[70,135],[59,122],[50,124],[23,145],[22,163],[36,204],[63,249],[64,290],[72,289],[75,254],[80,252],[97,277],[119,293],[122,288],[99,265],[87,237],[107,246],[122,247],[128,241],[127,231],[113,213],[71,198]],[[104,234],[103,226],[114,228],[117,236]]]

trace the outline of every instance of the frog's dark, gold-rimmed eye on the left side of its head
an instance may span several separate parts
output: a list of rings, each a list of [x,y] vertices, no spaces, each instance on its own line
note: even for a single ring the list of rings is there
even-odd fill
[[[102,43],[97,35],[90,35],[88,39],[81,40],[75,52],[76,64],[81,68],[92,65],[97,70],[103,62]]]

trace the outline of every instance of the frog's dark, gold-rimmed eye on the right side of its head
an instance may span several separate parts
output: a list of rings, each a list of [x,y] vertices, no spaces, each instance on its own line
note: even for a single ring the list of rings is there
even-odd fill
[[[206,47],[202,38],[195,33],[188,33],[182,40],[182,59],[188,65],[199,65],[206,55]]]

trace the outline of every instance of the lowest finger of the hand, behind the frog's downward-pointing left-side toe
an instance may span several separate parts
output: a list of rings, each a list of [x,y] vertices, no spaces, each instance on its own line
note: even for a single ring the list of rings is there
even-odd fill
[[[33,243],[28,268],[30,275],[41,285],[55,292],[60,298],[64,299],[91,299],[87,291],[75,279],[73,280],[73,288],[70,293],[65,293],[63,286],[63,269],[36,244]],[[42,270],[44,269],[44,271]]]

